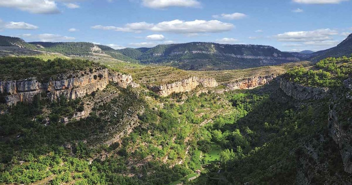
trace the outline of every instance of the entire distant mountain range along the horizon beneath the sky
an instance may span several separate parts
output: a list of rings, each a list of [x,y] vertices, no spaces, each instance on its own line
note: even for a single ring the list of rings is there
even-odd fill
[[[230,45],[207,42],[164,44],[153,48],[115,50],[105,45],[88,42],[27,43],[20,38],[6,36],[0,36],[0,47],[59,53],[71,57],[105,56],[126,62],[163,63],[186,70],[223,70],[277,65],[302,60],[316,62],[326,57],[350,56],[352,53],[352,34],[336,47],[318,52],[309,50],[283,52],[266,45]],[[1,50],[0,56],[3,56]]]

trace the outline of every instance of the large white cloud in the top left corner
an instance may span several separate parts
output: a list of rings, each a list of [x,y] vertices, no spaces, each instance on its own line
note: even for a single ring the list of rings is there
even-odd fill
[[[0,7],[17,8],[30,13],[59,13],[52,0],[0,0]]]

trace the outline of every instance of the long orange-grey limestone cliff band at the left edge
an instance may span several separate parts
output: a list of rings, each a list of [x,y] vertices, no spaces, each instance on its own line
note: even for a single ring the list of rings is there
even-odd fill
[[[24,80],[11,80],[0,82],[0,92],[9,106],[17,102],[32,102],[35,95],[45,93],[50,100],[64,95],[68,99],[75,99],[90,94],[96,90],[103,90],[109,81],[117,83],[120,87],[128,85],[138,87],[132,76],[109,72],[108,69],[97,69],[92,72],[80,71],[73,74],[61,74],[58,80],[49,80],[40,83],[36,78]]]

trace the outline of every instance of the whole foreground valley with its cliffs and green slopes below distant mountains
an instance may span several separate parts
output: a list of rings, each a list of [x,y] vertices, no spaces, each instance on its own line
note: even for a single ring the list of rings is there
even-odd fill
[[[85,60],[0,62],[0,184],[351,182],[352,58],[133,78]]]

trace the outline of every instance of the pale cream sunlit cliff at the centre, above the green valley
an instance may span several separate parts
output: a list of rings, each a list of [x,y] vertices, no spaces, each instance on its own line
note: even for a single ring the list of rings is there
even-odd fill
[[[217,87],[219,84],[212,78],[198,78],[193,76],[172,84],[147,86],[147,88],[158,95],[166,97],[172,93],[191,91],[199,85],[203,85],[203,87]]]

